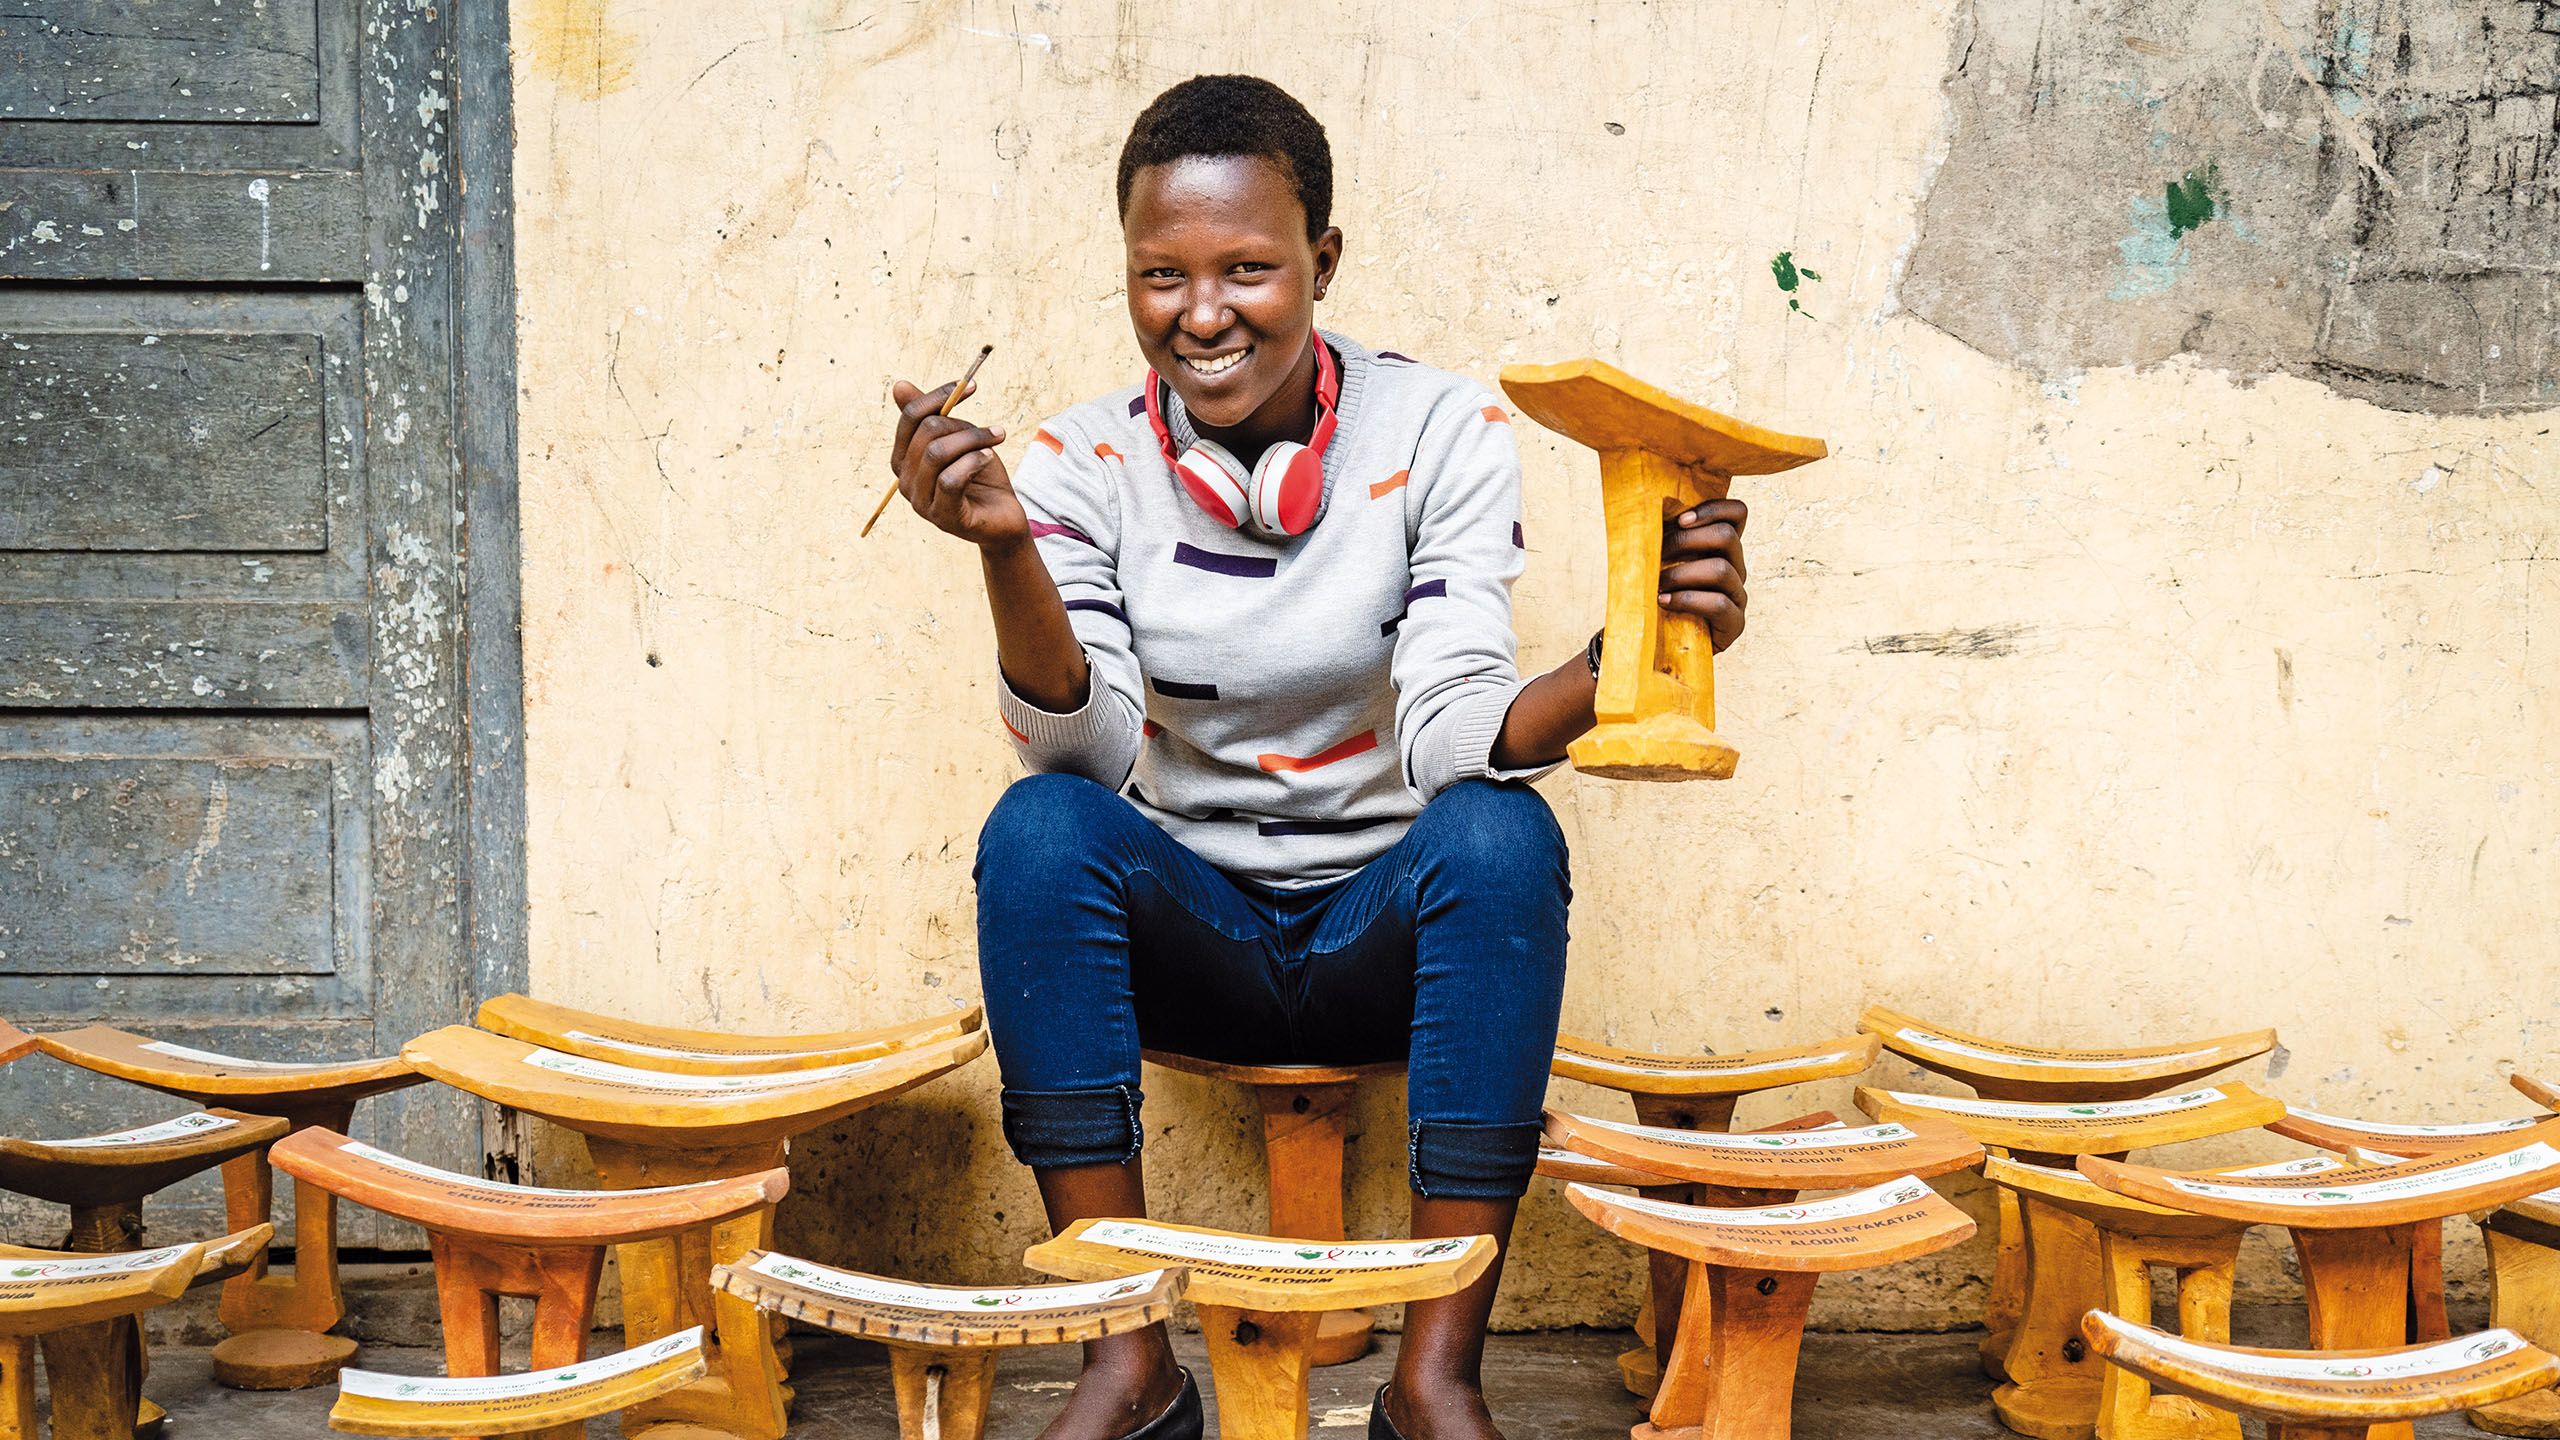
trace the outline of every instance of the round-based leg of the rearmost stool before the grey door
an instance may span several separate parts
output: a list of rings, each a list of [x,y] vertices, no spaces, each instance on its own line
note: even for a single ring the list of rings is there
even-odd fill
[[[294,1115],[292,1127],[325,1125],[346,1133],[356,1107],[330,1104]],[[276,1174],[266,1150],[223,1163],[223,1209],[241,1232],[274,1220]],[[330,1335],[346,1317],[338,1291],[338,1197],[294,1181],[294,1273],[266,1273],[261,1253],[246,1273],[223,1281],[223,1327],[212,1348],[212,1379],[230,1389],[307,1389],[338,1379],[356,1358],[356,1343]]]

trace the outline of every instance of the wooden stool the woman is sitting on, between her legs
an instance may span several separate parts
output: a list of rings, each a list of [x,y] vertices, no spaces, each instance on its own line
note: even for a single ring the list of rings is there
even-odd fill
[[[1147,1063],[1236,1081],[1262,1107],[1262,1163],[1270,1174],[1270,1232],[1290,1240],[1341,1240],[1341,1148],[1352,1130],[1359,1081],[1403,1074],[1375,1066],[1229,1066],[1172,1051],[1144,1051]],[[1316,1317],[1316,1366],[1344,1366],[1370,1353],[1367,1309]]]

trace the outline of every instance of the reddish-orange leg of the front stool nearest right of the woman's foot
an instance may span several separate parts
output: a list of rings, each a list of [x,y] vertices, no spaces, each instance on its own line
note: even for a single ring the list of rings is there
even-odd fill
[[[1687,1325],[1631,1440],[1787,1440],[1818,1279],[1692,1263]]]

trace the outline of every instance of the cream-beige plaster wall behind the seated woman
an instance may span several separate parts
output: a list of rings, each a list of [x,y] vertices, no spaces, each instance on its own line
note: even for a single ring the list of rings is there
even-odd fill
[[[1741,774],[1544,784],[1567,1027],[1748,1048],[1871,999],[2038,1040],[2278,1025],[2245,1079],[2299,1104],[2519,1112],[2504,1071],[2560,1068],[2555,415],[2181,359],[2038,379],[1915,320],[1958,10],[515,0],[535,992],[750,1030],[975,997],[970,848],[1014,764],[973,556],[911,515],[855,541],[883,392],[993,341],[975,413],[1027,436],[1126,382],[1124,128],[1257,69],[1334,136],[1324,323],[1485,379],[1597,354],[1833,448],[1738,487]],[[1802,310],[1779,251],[1820,272]],[[1600,615],[1597,469],[1521,441],[1544,666]],[[801,1143],[786,1245],[1016,1273],[1042,1225],[993,1079]],[[1149,1092],[1160,1212],[1257,1225],[1247,1104]],[[1354,1140],[1372,1235],[1398,1104]],[[1961,1322],[1984,1263],[1843,1279],[1823,1314]],[[1539,1181],[1500,1322],[1623,1322],[1636,1273]],[[2273,1256],[2253,1284],[2281,1294]]]

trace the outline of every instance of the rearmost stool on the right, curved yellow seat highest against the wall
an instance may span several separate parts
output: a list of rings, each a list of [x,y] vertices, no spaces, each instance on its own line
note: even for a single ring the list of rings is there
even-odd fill
[[[1892,1053],[1920,1068],[1974,1086],[1974,1094],[1984,1099],[2040,1102],[2143,1099],[2163,1089],[2184,1089],[2220,1068],[2276,1048],[2273,1030],[2117,1051],[2015,1045],[1946,1025],[1928,1025],[1882,1004],[1871,1004],[1866,1015],[1859,1015],[1859,1030],[1876,1035]],[[2017,1338],[2017,1317],[2028,1304],[2028,1227],[2012,1191],[1997,1191],[1997,1204],[1999,1248],[1992,1261],[1992,1294],[1981,1314],[1981,1368],[1994,1381],[2004,1381],[2010,1376],[2002,1371],[2002,1363]]]

